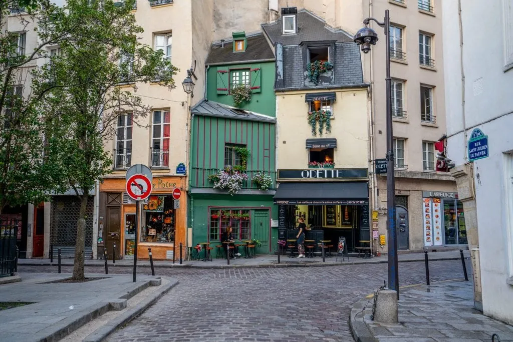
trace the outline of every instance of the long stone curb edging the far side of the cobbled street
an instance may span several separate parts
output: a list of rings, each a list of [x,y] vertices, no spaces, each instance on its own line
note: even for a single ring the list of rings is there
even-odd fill
[[[465,257],[465,259],[469,259]],[[429,261],[445,261],[445,260],[461,260],[459,257],[446,257],[446,258],[430,258]],[[399,260],[399,263],[422,263],[424,259],[407,259]],[[281,268],[281,267],[329,267],[329,266],[350,266],[350,265],[371,265],[371,264],[388,264],[387,260],[376,260],[376,261],[362,261],[360,263],[294,263],[294,264],[256,264],[256,265],[212,265],[212,266],[198,266],[198,265],[187,265],[187,264],[175,264],[175,265],[154,265],[155,268],[189,268],[189,269],[229,269],[229,268]],[[22,263],[18,266],[58,266],[56,263]],[[73,266],[73,264],[61,264],[61,266]],[[91,264],[85,265],[86,267],[105,267],[102,264]],[[129,264],[109,264],[110,267],[130,267],[133,265]],[[137,268],[150,268],[150,265],[137,265]]]

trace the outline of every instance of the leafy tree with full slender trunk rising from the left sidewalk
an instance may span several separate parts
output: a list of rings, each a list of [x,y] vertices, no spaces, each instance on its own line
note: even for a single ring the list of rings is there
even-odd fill
[[[134,0],[114,6],[112,0],[68,0],[55,22],[80,29],[60,44],[61,53],[38,73],[36,89],[52,88],[38,107],[51,117],[48,148],[58,150],[67,184],[81,200],[77,223],[73,279],[84,279],[85,215],[89,191],[111,171],[112,157],[104,140],[114,136],[113,124],[131,113],[134,124],[150,106],[133,93],[137,83],[174,87],[176,74],[162,51],[139,42],[143,32],[131,10]],[[120,87],[129,85],[131,88]]]

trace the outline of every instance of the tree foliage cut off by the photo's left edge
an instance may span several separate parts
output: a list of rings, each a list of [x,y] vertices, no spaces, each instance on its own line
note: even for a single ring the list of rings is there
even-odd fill
[[[36,64],[76,26],[55,25],[62,9],[42,0],[0,1],[0,213],[6,206],[39,203],[62,185],[60,160],[44,150],[38,102],[54,86],[33,89]],[[37,45],[26,48],[37,31]],[[27,33],[20,33],[27,32]]]

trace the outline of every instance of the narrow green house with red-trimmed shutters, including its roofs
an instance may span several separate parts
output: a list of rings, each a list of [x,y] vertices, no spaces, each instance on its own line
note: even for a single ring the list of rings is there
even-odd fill
[[[240,51],[235,44],[240,43]],[[233,35],[212,45],[207,58],[207,99],[192,108],[189,165],[189,227],[192,246],[210,243],[213,256],[227,226],[236,241],[259,240],[257,253],[276,250],[276,120],[274,54],[263,34]],[[234,106],[232,89],[245,85],[251,97]],[[228,168],[227,168],[228,166]],[[216,175],[242,175],[229,191]],[[214,177],[214,179],[212,179]],[[262,187],[257,178],[270,183]],[[219,179],[219,178],[217,178]],[[224,179],[224,178],[223,178]],[[257,179],[257,180],[255,180]],[[215,187],[214,187],[215,186]],[[240,248],[243,253],[244,249]]]

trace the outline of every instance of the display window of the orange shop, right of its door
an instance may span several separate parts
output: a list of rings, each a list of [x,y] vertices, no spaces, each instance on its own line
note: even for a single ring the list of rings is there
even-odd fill
[[[171,195],[150,196],[143,206],[141,242],[174,242],[175,215]]]

